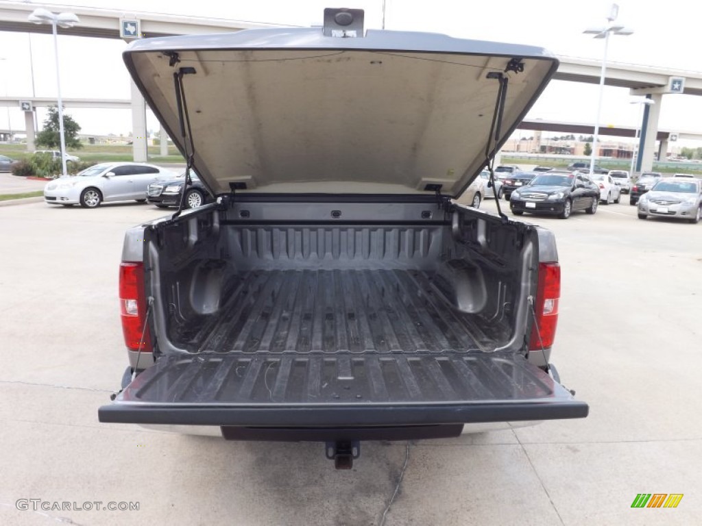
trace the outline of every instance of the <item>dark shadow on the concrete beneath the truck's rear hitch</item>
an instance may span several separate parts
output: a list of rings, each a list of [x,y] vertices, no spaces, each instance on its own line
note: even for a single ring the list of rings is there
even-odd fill
[[[336,470],[333,461],[326,459],[323,443],[182,438],[178,454],[197,457],[188,462],[197,466],[197,471],[189,474],[190,483],[207,487],[207,498],[218,502],[218,513],[237,525],[378,525],[395,494],[407,452],[406,442],[363,442],[353,468]],[[415,483],[430,487],[431,494],[456,492],[456,478],[450,473],[444,476],[447,463],[461,466],[466,477],[484,478],[484,466],[472,468],[470,459],[483,455],[486,442],[484,433],[478,433],[410,443],[404,482],[392,510],[420,506],[431,522],[435,513],[441,514],[442,499],[403,494],[406,480],[411,477]],[[389,513],[388,524],[407,522],[406,518],[391,518]]]

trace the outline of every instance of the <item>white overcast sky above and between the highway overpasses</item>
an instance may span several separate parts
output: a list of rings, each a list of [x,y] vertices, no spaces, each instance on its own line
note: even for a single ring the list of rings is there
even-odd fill
[[[0,4],[4,2],[0,1]],[[84,0],[44,2],[66,11],[70,5],[133,12],[171,13],[199,17],[309,26],[322,20],[324,7],[343,5],[366,11],[366,28],[380,28],[382,0]],[[621,0],[618,22],[631,27],[631,36],[613,36],[608,61],[628,62],[690,71],[702,71],[700,32],[702,3],[690,0]],[[387,0],[386,29],[441,32],[470,39],[508,41],[543,46],[557,55],[601,60],[603,41],[583,30],[606,24],[611,1],[602,0]],[[56,94],[53,41],[50,35],[0,32],[0,93],[32,94],[29,39],[34,62],[34,89],[39,97]],[[65,97],[126,99],[130,96],[128,74],[121,61],[126,43],[110,39],[60,36],[61,88]],[[639,105],[629,104],[627,89],[606,87],[601,124],[634,126]],[[597,86],[553,81],[529,114],[529,118],[592,123],[597,111]],[[131,116],[122,110],[67,109],[86,133],[126,133]],[[665,95],[660,127],[702,133],[702,97]],[[44,116],[39,115],[39,119]],[[7,125],[0,111],[0,128]],[[13,128],[23,128],[19,110],[11,109]],[[158,123],[150,118],[150,128]],[[691,145],[700,146],[697,142]]]

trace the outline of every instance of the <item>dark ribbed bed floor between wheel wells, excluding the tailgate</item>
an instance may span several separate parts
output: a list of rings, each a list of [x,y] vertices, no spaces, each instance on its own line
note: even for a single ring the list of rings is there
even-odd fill
[[[194,338],[216,353],[482,351],[467,316],[418,270],[251,271]]]

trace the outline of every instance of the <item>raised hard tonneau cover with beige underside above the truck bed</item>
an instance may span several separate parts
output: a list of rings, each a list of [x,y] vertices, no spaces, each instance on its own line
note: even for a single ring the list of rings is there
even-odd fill
[[[181,152],[230,191],[434,191],[458,197],[522,121],[558,61],[542,48],[442,34],[248,29],[139,39],[124,60]],[[500,78],[500,133],[489,137]],[[187,132],[188,126],[185,126]]]

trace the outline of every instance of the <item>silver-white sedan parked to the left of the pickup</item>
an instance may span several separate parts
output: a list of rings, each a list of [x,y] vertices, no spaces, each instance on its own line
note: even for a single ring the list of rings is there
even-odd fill
[[[145,163],[100,163],[78,175],[59,177],[44,187],[44,201],[51,205],[95,208],[102,201],[146,201],[149,185],[172,179],[176,173]]]

